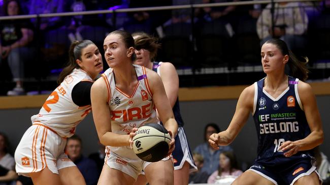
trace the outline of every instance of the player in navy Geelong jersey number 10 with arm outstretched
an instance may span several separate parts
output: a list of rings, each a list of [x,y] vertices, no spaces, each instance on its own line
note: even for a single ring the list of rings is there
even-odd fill
[[[262,45],[261,63],[267,76],[243,90],[232,122],[209,143],[213,148],[232,143],[252,112],[257,159],[233,184],[320,184],[312,149],[323,142],[323,130],[312,88],[303,82],[306,63],[280,39]],[[293,77],[284,73],[286,64]]]

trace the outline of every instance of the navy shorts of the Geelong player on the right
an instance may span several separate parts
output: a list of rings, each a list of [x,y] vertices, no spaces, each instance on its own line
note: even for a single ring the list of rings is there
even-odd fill
[[[306,154],[298,156],[276,157],[274,159],[256,160],[250,169],[255,173],[267,178],[276,185],[293,184],[302,176],[317,173],[315,158]]]

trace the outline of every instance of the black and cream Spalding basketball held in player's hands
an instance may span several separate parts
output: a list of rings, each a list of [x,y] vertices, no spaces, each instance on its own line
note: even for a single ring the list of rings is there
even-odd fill
[[[140,159],[147,162],[157,162],[169,153],[171,135],[162,125],[147,123],[135,133],[133,150]]]

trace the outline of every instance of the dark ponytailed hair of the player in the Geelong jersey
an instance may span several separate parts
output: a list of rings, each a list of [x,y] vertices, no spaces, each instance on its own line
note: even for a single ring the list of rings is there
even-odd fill
[[[299,78],[302,81],[306,81],[309,72],[306,67],[306,64],[308,63],[307,57],[304,57],[305,62],[298,60],[298,58],[296,58],[295,55],[288,49],[287,44],[281,39],[271,38],[265,43],[272,43],[276,45],[276,47],[281,51],[283,56],[289,56],[289,61],[287,63],[290,67],[289,75],[295,78]]]

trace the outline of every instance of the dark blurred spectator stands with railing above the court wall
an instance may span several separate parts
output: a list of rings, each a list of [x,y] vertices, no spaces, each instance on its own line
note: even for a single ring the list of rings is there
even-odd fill
[[[90,39],[103,52],[106,34],[116,29],[158,37],[156,60],[175,65],[180,87],[253,83],[264,76],[260,44],[271,37],[309,58],[310,81],[328,80],[330,1],[252,3],[2,0],[0,95],[48,94],[72,41]]]

